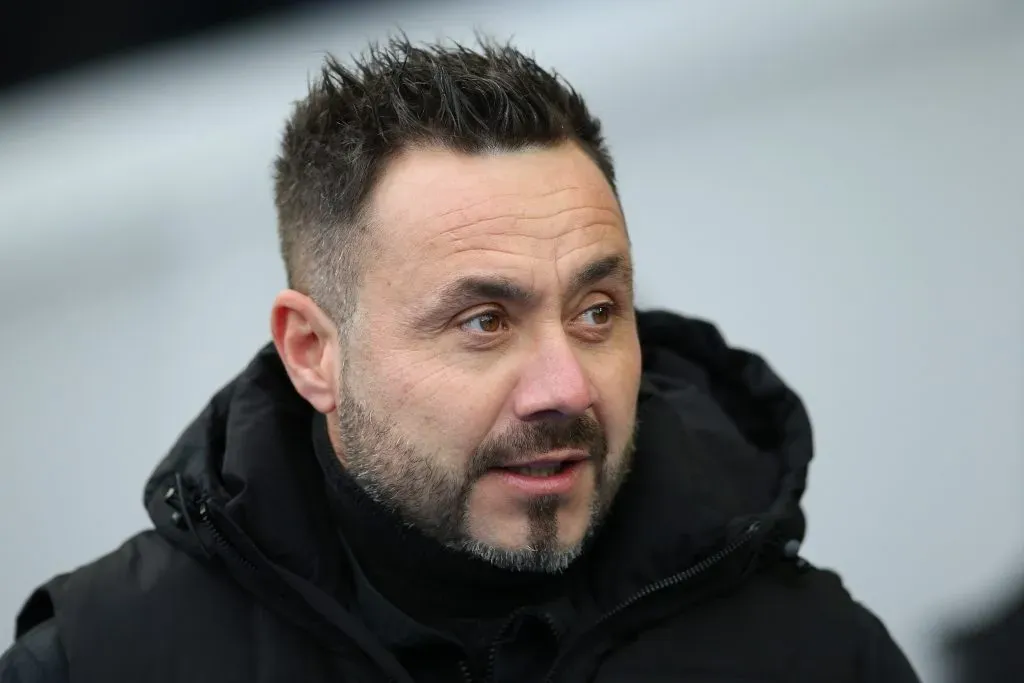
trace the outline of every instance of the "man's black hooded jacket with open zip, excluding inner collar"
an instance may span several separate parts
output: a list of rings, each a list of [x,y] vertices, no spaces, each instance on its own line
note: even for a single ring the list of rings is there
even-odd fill
[[[879,620],[798,555],[812,446],[797,395],[705,323],[643,313],[640,336],[636,462],[573,616],[510,614],[471,680],[916,681]],[[155,528],[29,600],[0,681],[477,676],[457,649],[398,651],[366,626],[311,416],[260,352],[146,484]]]

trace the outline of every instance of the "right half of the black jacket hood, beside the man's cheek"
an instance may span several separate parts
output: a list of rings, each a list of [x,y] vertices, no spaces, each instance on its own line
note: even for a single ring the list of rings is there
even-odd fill
[[[649,311],[639,334],[637,455],[596,548],[602,592],[622,599],[683,571],[754,523],[762,548],[795,557],[813,453],[799,396],[705,321]]]

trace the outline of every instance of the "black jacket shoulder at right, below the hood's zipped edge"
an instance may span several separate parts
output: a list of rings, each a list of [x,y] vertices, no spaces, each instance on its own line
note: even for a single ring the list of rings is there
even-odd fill
[[[608,660],[616,663],[623,675],[643,663],[678,678],[702,671],[750,680],[920,683],[882,622],[837,573],[795,562],[765,567],[650,625]]]

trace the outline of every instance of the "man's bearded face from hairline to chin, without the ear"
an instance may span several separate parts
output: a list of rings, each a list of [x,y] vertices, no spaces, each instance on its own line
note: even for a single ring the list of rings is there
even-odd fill
[[[442,543],[557,571],[632,456],[640,348],[629,240],[578,147],[410,152],[372,198],[343,342],[342,460]]]

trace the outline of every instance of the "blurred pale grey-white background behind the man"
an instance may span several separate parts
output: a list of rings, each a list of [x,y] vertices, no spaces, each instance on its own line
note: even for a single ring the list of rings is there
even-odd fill
[[[1024,12],[989,0],[322,8],[0,100],[0,629],[146,524],[141,486],[268,339],[270,163],[325,51],[514,37],[606,125],[641,303],[808,401],[807,556],[926,681],[1024,581]]]

